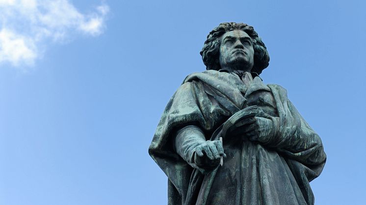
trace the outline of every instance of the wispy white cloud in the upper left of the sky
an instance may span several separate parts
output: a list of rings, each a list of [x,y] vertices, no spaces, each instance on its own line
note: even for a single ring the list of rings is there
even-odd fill
[[[83,14],[69,0],[0,0],[0,64],[33,65],[47,41],[98,36],[108,12],[106,4]]]

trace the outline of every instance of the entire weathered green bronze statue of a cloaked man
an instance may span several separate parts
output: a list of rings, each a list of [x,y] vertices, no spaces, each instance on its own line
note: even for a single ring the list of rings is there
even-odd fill
[[[166,106],[149,154],[168,177],[169,205],[314,205],[309,182],[326,155],[279,85],[253,27],[221,23]]]

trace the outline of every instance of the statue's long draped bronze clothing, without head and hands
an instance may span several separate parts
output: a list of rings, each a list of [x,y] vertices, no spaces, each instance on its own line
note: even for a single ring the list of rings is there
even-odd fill
[[[149,154],[168,177],[169,205],[314,205],[309,182],[326,161],[320,137],[306,123],[279,85],[249,83],[235,73],[207,70],[188,75],[158,123]],[[278,126],[271,138],[233,142],[223,125],[249,103],[254,93],[270,93]],[[264,94],[257,103],[266,110]],[[268,99],[267,99],[268,101]],[[268,109],[267,109],[268,110]],[[270,109],[269,109],[270,110]],[[177,130],[198,126],[207,140],[224,137],[224,165],[209,172],[175,150]]]

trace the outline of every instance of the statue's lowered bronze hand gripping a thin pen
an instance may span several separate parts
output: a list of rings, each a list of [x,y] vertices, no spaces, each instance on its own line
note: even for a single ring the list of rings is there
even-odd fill
[[[194,163],[202,168],[213,168],[220,163],[220,157],[226,158],[220,140],[207,140],[195,149]]]

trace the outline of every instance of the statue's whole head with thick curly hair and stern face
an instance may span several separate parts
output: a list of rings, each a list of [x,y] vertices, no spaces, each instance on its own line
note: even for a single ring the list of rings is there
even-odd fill
[[[219,70],[222,65],[238,69],[239,65],[240,69],[249,68],[260,74],[269,64],[264,43],[254,28],[245,23],[220,23],[209,32],[200,54],[208,70]]]

